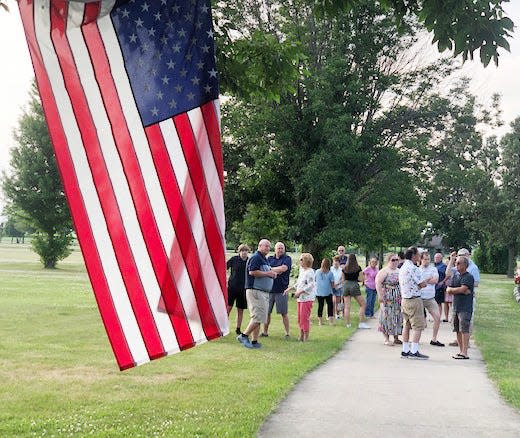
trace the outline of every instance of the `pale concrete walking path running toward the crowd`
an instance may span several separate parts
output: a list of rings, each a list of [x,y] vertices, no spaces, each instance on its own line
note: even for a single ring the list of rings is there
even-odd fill
[[[401,359],[400,346],[383,345],[377,321],[369,324],[295,386],[260,437],[520,437],[520,415],[500,399],[476,348],[470,360],[452,359],[458,348],[429,345],[429,322],[420,351],[430,359]],[[446,345],[450,326],[441,323]],[[311,338],[315,330],[327,326],[313,325]]]

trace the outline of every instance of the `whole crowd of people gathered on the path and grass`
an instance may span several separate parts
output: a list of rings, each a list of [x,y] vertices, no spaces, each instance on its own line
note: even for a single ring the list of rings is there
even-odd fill
[[[228,314],[237,308],[237,340],[246,348],[261,348],[259,337],[269,336],[271,314],[281,315],[285,338],[290,339],[288,300],[296,298],[298,309],[299,341],[309,339],[311,314],[317,300],[318,325],[324,324],[323,311],[327,306],[329,325],[344,320],[351,327],[350,308],[354,298],[359,304],[360,329],[369,329],[367,319],[375,318],[379,302],[378,330],[387,346],[401,345],[404,359],[428,359],[419,352],[419,342],[426,328],[427,312],[433,321],[430,345],[444,347],[437,339],[442,322],[451,322],[456,339],[450,345],[458,346],[454,359],[469,359],[469,339],[476,308],[476,290],[480,273],[471,260],[470,252],[462,248],[452,252],[448,262],[437,252],[431,263],[428,251],[410,247],[406,252],[387,254],[386,264],[379,269],[379,260],[372,257],[362,269],[355,254],[345,254],[339,246],[331,260],[324,258],[316,271],[314,258],[302,253],[295,284],[289,286],[292,259],[285,245],[277,242],[274,255],[269,256],[271,243],[262,239],[257,251],[249,257],[247,245],[238,247],[238,255],[227,262]],[[360,285],[365,286],[366,300]],[[249,309],[250,321],[242,332],[243,312]],[[442,318],[444,315],[444,318]],[[262,328],[263,325],[263,328]],[[402,340],[399,337],[402,337]]]

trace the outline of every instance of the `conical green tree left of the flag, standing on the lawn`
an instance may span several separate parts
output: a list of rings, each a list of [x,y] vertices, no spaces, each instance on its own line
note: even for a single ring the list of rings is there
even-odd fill
[[[35,229],[34,251],[55,268],[70,254],[72,222],[35,86],[14,139],[11,172],[2,178],[7,211]]]

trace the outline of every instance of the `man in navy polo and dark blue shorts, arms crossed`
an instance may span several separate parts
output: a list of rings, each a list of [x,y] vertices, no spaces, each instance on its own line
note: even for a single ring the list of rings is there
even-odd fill
[[[276,304],[276,313],[282,315],[283,326],[285,328],[285,339],[289,338],[289,298],[285,290],[289,287],[289,276],[291,275],[292,259],[285,254],[285,245],[277,242],[274,246],[274,256],[267,258],[271,269],[278,274],[273,283],[273,288],[269,294],[269,309],[267,312],[267,324],[264,324],[262,336],[269,336],[269,324],[271,323],[271,313]]]

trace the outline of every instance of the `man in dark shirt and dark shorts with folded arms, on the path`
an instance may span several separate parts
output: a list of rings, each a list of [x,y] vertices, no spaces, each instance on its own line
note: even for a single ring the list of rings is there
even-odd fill
[[[471,315],[473,313],[473,288],[475,281],[469,273],[469,259],[458,256],[455,262],[457,273],[446,293],[453,297],[453,331],[457,333],[460,352],[453,359],[469,359],[468,346],[470,336]]]

